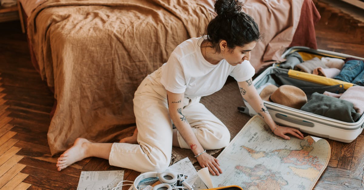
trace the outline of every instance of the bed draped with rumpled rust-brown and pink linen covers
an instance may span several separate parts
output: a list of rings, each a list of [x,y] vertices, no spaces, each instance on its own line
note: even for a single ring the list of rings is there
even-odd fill
[[[214,0],[20,0],[32,63],[54,91],[53,156],[78,137],[111,142],[135,122],[139,83],[173,49],[204,34]],[[252,51],[260,71],[293,45],[317,48],[312,0],[243,0],[264,33]],[[258,11],[259,10],[259,11]]]

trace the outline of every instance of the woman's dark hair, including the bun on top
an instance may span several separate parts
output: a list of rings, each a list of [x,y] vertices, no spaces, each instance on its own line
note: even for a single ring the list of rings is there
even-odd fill
[[[241,8],[242,3],[238,0],[216,0],[217,16],[207,25],[207,40],[217,52],[220,52],[221,40],[226,40],[230,49],[261,40],[257,23],[241,12]]]

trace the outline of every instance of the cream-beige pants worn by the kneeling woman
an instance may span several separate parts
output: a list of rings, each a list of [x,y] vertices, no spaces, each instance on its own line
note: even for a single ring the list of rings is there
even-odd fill
[[[134,114],[138,128],[138,145],[113,143],[109,163],[139,172],[164,171],[172,153],[172,120],[167,105],[167,92],[160,82],[161,68],[148,75],[134,95]],[[207,150],[226,147],[230,132],[207,108],[201,98],[185,98],[183,115]],[[179,146],[190,149],[177,132]]]

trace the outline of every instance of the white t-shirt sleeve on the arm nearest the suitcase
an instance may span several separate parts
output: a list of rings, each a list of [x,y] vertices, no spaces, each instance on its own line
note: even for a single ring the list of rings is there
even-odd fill
[[[251,79],[254,74],[254,67],[248,60],[245,60],[243,63],[234,67],[233,71],[230,73],[230,76],[234,77],[237,82],[243,82],[245,80]]]

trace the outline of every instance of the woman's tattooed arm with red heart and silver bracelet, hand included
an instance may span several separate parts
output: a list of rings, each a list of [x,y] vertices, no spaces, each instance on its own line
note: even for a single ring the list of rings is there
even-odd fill
[[[194,155],[198,155],[202,153],[203,147],[199,143],[196,135],[193,133],[190,124],[187,122],[185,116],[183,115],[183,98],[185,95],[175,94],[170,91],[167,91],[167,101],[168,101],[168,109],[169,115],[176,126],[179,134],[181,134],[182,138],[186,141]],[[219,175],[222,173],[218,160],[213,156],[203,153],[197,157],[198,163],[201,167],[208,167],[209,171],[212,175]]]

